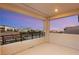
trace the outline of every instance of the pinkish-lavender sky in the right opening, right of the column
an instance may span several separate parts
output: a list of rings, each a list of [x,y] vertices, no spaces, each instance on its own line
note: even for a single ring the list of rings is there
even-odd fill
[[[63,30],[65,27],[78,25],[78,16],[69,16],[50,21],[50,30]]]

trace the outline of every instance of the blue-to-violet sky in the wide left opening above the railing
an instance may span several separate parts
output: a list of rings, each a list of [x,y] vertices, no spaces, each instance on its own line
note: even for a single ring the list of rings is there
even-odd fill
[[[0,9],[0,25],[43,30],[42,20],[4,9]]]

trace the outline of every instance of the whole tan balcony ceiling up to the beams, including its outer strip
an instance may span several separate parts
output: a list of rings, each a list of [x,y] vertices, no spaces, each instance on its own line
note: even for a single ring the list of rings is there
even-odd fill
[[[15,5],[25,10],[29,10],[42,17],[54,17],[59,15],[69,16],[79,14],[78,3],[16,3],[12,5]],[[58,9],[58,12],[55,12],[55,9]]]

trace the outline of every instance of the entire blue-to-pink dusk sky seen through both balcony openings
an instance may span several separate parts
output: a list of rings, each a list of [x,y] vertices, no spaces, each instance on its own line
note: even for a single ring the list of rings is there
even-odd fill
[[[42,20],[4,9],[0,9],[0,25],[6,25],[15,28],[30,27],[32,29],[43,30]],[[79,25],[77,15],[50,21],[50,30],[59,30],[64,29],[65,27],[76,25]]]

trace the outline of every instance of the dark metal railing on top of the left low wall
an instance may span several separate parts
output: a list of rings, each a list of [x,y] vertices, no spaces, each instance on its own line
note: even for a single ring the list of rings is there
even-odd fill
[[[0,36],[0,45],[43,37],[44,32],[21,32],[20,34]]]

